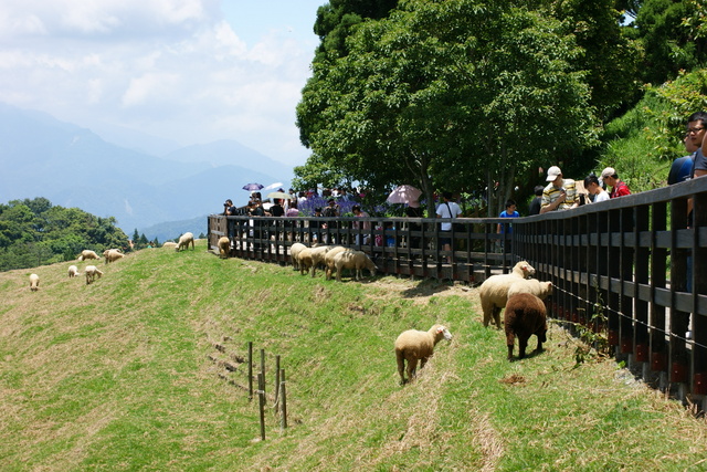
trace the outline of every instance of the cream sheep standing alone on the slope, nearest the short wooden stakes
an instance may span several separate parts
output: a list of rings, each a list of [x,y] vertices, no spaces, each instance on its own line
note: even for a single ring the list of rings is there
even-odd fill
[[[434,325],[426,332],[408,329],[398,336],[398,339],[395,339],[395,359],[401,385],[411,381],[415,377],[418,360],[420,360],[420,368],[424,367],[432,356],[434,346],[442,338],[452,340],[452,334],[443,325]],[[405,360],[408,361],[408,380],[405,380],[404,376]]]

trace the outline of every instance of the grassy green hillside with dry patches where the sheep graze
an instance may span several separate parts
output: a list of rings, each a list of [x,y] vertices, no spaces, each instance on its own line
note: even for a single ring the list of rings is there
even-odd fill
[[[67,265],[38,268],[39,293],[30,271],[0,273],[0,470],[637,471],[705,457],[704,422],[613,363],[573,369],[558,328],[542,355],[506,361],[467,287],[312,280],[204,242],[101,264],[92,285]],[[395,336],[435,322],[454,339],[400,387]],[[268,394],[275,355],[287,373],[291,428],[271,396],[265,442],[245,365],[210,359],[245,357],[249,340]]]

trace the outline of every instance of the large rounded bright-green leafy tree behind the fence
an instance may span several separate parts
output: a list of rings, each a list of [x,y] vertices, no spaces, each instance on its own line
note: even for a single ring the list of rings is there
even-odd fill
[[[297,175],[338,169],[376,188],[413,183],[429,202],[434,190],[500,182],[503,200],[518,174],[588,146],[595,118],[573,66],[574,36],[514,4],[409,0],[361,23],[348,54],[315,67],[316,86],[303,93],[298,117],[316,123],[305,144],[317,168]]]

